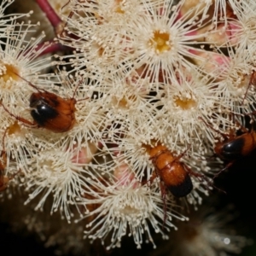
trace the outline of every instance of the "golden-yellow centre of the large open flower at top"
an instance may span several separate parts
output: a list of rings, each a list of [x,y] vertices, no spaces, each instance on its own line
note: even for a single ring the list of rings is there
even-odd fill
[[[167,32],[154,31],[153,38],[150,39],[149,45],[153,46],[155,52],[160,54],[171,49],[170,46],[170,34]]]

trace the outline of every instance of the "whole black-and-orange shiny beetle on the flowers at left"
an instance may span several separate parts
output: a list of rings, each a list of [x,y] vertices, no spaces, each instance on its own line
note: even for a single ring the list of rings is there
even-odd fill
[[[15,74],[20,77],[19,74]],[[36,85],[32,84],[26,79],[23,80],[30,84],[32,88],[38,90],[38,92],[32,93],[29,100],[29,107],[32,108],[30,113],[32,115],[33,122],[10,113],[8,108],[6,108],[3,105],[3,102],[1,102],[0,104],[3,106],[4,110],[25,125],[42,127],[57,133],[70,131],[76,121],[75,105],[78,101],[74,98],[74,95],[78,90],[79,84],[74,90],[72,98],[62,98],[61,96],[57,96],[55,93],[47,90],[39,90]],[[86,99],[88,98],[84,98],[79,101]]]

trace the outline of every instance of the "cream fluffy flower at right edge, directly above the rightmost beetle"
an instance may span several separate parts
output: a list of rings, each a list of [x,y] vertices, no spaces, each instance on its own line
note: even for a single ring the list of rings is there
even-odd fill
[[[256,49],[255,46],[254,48]],[[242,46],[229,49],[229,56],[223,56],[222,65],[218,71],[218,93],[222,100],[230,105],[234,113],[250,113],[256,100],[254,86],[250,79],[253,76],[255,65],[251,49]]]

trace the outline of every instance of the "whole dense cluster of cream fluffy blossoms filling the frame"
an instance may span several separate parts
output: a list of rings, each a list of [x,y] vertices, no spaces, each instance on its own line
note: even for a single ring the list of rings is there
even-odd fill
[[[70,0],[59,18],[37,0],[57,36],[45,43],[31,36],[38,25],[18,23],[29,17],[3,15],[9,2],[0,7],[0,191],[23,188],[36,210],[51,201],[50,213],[85,222],[85,237],[108,249],[123,236],[137,247],[154,244],[152,233],[167,239],[174,220],[188,219],[182,207],[212,189],[215,143],[254,111],[256,2]],[[191,179],[183,199],[157,172],[159,146]]]

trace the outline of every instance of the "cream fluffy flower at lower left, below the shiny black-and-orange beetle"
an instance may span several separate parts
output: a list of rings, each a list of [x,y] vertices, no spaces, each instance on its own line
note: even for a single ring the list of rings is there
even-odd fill
[[[42,195],[36,209],[43,209],[49,195],[53,195],[51,213],[61,210],[67,221],[73,216],[72,205],[81,198],[86,186],[86,173],[90,168],[100,172],[102,166],[93,165],[91,160],[95,157],[96,148],[90,144],[84,148],[61,150],[60,145],[52,145],[38,150],[38,154],[27,160],[28,167],[25,172],[24,186],[30,192],[26,203]],[[107,169],[107,166],[106,166]],[[78,211],[79,208],[75,206]]]

